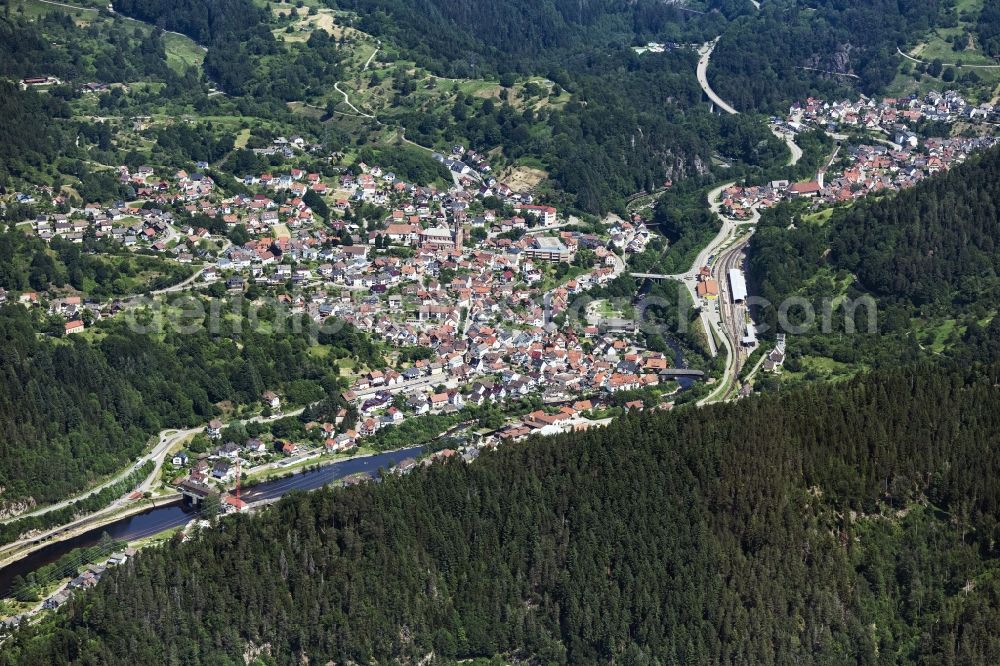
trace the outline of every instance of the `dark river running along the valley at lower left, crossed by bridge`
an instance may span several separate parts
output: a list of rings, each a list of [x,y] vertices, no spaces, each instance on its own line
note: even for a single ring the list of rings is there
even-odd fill
[[[421,448],[414,446],[373,456],[349,458],[324,465],[317,470],[260,483],[244,490],[241,497],[247,502],[258,502],[281,497],[293,490],[315,490],[353,474],[365,473],[374,476],[380,469],[392,467],[406,458],[415,458],[419,455]],[[75,548],[93,546],[100,541],[102,534],[107,533],[112,539],[118,541],[135,541],[172,527],[184,525],[196,514],[195,508],[181,501],[175,501],[151,507],[142,513],[116,520],[101,527],[95,527],[75,537],[53,542],[0,569],[0,597],[10,593],[11,582],[15,577],[26,576],[39,567],[51,564]]]

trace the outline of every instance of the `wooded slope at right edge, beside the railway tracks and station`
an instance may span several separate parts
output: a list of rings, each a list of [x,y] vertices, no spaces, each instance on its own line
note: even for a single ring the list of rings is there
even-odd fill
[[[751,293],[772,304],[805,298],[817,313],[824,299],[874,299],[872,329],[868,308],[835,305],[830,330],[791,336],[796,356],[854,369],[929,353],[991,357],[989,336],[1000,324],[998,208],[997,149],[912,189],[837,207],[825,222],[782,204],[763,216],[750,244]],[[793,309],[789,320],[800,323],[802,314]],[[755,320],[767,337],[779,331],[776,306],[758,308]]]

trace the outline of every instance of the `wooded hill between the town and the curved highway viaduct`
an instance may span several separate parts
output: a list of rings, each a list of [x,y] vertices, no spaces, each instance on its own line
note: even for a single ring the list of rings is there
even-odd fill
[[[574,96],[557,110],[544,104],[538,111],[517,109],[504,90],[499,102],[459,95],[443,111],[410,110],[404,102],[402,110],[386,115],[423,145],[467,139],[478,149],[499,146],[515,163],[540,162],[561,205],[590,213],[623,211],[635,192],[707,173],[714,153],[760,168],[784,162],[784,145],[756,119],[719,118],[700,107],[694,69],[692,53],[653,60],[619,47],[575,71],[549,72]]]

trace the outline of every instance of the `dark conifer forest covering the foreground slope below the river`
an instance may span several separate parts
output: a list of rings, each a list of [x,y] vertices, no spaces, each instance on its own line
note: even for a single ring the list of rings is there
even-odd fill
[[[0,664],[995,664],[998,372],[633,414],[290,496],[142,552]]]

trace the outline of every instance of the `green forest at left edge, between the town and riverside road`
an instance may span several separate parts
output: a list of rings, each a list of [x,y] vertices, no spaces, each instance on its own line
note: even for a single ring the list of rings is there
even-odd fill
[[[125,467],[163,428],[192,427],[293,384],[339,395],[339,368],[310,354],[310,339],[209,327],[185,335],[165,327],[133,332],[126,321],[96,324],[93,341],[38,335],[19,305],[0,309],[0,487],[4,503],[45,503]],[[289,327],[290,328],[290,327]],[[342,355],[377,354],[350,326],[324,333]],[[353,350],[357,349],[358,352]],[[310,390],[312,390],[310,389]],[[313,391],[315,392],[315,391]]]

